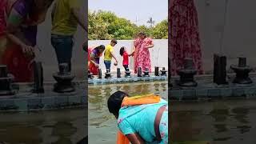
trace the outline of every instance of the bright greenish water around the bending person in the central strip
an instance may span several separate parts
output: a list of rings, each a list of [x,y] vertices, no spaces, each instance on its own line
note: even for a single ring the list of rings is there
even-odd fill
[[[116,142],[117,122],[109,113],[106,102],[110,94],[117,90],[134,94],[160,94],[162,98],[168,97],[167,82],[137,82],[113,85],[89,86],[88,114],[89,114],[89,143],[114,144]]]

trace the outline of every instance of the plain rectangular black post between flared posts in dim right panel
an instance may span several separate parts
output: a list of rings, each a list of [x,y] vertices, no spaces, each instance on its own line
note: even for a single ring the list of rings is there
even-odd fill
[[[214,83],[226,85],[226,56],[214,54]]]

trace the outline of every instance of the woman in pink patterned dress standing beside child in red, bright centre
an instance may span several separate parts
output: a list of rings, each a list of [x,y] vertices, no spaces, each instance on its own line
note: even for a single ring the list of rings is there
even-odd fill
[[[142,71],[149,69],[151,72],[150,62],[150,48],[154,47],[154,43],[151,38],[147,38],[146,34],[139,33],[138,38],[134,41],[134,73],[137,73],[138,67],[142,68]]]

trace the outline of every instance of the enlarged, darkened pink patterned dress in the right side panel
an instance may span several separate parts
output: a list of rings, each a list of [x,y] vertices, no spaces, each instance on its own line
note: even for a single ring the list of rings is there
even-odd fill
[[[194,0],[170,0],[169,23],[171,74],[176,75],[182,69],[185,58],[192,58],[198,74],[203,74],[198,13]]]

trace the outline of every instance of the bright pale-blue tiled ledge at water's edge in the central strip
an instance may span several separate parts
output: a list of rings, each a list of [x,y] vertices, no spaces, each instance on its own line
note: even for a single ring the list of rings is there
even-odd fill
[[[150,76],[150,77],[137,77],[132,76],[131,78],[93,78],[88,79],[89,85],[103,85],[113,83],[127,83],[127,82],[154,82],[154,81],[166,81],[167,76]]]

